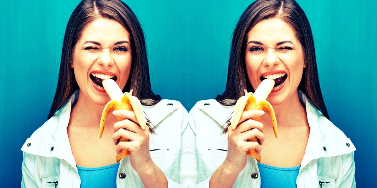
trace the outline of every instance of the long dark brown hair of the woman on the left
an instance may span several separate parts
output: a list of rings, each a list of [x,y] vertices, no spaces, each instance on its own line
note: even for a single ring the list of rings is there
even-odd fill
[[[79,88],[73,69],[70,67],[74,48],[83,28],[98,18],[118,21],[130,34],[132,64],[123,92],[129,92],[132,88],[132,94],[138,97],[143,105],[154,105],[161,100],[159,95],[152,92],[144,32],[129,6],[120,0],[83,0],[72,12],[67,23],[58,84],[48,118],[51,118],[64,101]]]

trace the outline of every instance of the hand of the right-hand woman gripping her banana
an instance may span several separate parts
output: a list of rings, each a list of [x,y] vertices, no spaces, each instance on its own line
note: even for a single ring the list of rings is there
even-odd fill
[[[263,112],[263,111],[262,111]],[[259,110],[248,110],[242,113],[238,126],[233,130],[228,127],[228,152],[224,163],[230,165],[231,169],[241,171],[244,169],[247,161],[247,151],[256,149],[258,154],[261,153],[264,141],[263,124],[254,121],[255,118],[263,115]],[[256,137],[257,141],[247,141]]]

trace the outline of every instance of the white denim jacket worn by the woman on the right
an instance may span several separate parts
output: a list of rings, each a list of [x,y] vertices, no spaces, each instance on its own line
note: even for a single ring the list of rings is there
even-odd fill
[[[323,116],[301,91],[299,97],[306,108],[310,134],[296,180],[297,187],[356,187],[356,148],[351,140]],[[210,177],[225,160],[228,140],[227,135],[220,133],[233,109],[234,106],[224,106],[209,99],[198,101],[189,112],[189,124],[196,135],[196,159],[192,160],[197,160],[198,163],[200,183],[197,187],[208,187]],[[233,187],[259,188],[261,178],[257,161],[247,156],[247,164]]]

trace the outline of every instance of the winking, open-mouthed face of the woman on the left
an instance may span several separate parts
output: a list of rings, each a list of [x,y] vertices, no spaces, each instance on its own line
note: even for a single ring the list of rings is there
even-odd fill
[[[110,98],[102,87],[102,79],[114,79],[123,89],[131,63],[130,35],[120,23],[99,18],[87,24],[76,43],[71,64],[80,96],[105,105]]]

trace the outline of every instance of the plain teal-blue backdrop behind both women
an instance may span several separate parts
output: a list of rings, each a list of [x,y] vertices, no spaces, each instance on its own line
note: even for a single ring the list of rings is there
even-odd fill
[[[222,93],[233,28],[252,2],[125,1],[141,21],[155,93],[182,102]],[[374,0],[299,0],[313,29],[331,120],[356,145],[358,187],[377,184]],[[0,182],[18,187],[20,148],[46,121],[57,84],[64,29],[78,0],[1,1]]]

